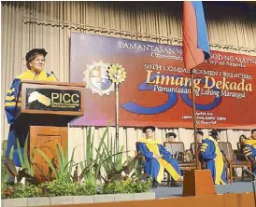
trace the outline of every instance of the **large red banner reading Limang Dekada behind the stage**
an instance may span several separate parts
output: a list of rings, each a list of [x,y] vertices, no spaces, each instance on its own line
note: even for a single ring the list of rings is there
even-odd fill
[[[70,81],[85,82],[85,114],[73,126],[115,122],[109,63],[126,71],[120,86],[120,126],[192,128],[190,71],[182,48],[93,34],[71,34]],[[256,57],[211,51],[193,69],[196,122],[201,128],[256,127]]]

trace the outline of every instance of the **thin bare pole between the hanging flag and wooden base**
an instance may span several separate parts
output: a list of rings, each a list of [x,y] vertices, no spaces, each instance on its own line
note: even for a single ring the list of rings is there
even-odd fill
[[[192,81],[192,123],[193,123],[193,140],[194,140],[194,152],[195,152],[195,164],[196,170],[200,170],[199,160],[198,160],[198,153],[197,153],[197,134],[196,134],[196,111],[195,111],[195,103],[194,103],[194,85],[193,85],[193,69],[191,69],[191,81]]]

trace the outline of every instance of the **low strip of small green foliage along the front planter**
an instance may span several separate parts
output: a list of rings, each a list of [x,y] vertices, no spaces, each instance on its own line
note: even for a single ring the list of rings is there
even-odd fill
[[[13,192],[8,196],[14,198],[31,197],[57,197],[57,196],[92,196],[97,194],[117,194],[117,193],[141,193],[148,192],[151,186],[151,180],[137,181],[127,179],[125,181],[114,181],[99,186],[96,192],[96,186],[86,183],[73,183],[62,174],[58,179],[39,186],[17,184]]]

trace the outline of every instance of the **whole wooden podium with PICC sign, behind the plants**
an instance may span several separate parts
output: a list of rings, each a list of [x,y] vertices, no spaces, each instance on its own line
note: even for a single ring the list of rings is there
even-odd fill
[[[18,106],[19,105],[19,106]],[[21,105],[21,106],[20,106]],[[50,160],[57,158],[57,143],[67,146],[67,124],[84,115],[84,85],[78,83],[21,81],[16,106],[16,131],[29,131],[29,156],[34,154],[34,172],[45,180],[49,166],[35,146]],[[54,176],[54,174],[53,174]]]

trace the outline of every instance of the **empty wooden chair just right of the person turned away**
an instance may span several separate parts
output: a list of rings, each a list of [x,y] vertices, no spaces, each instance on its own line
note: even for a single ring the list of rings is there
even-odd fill
[[[234,154],[233,148],[231,143],[229,142],[220,142],[218,143],[220,147],[220,151],[223,152],[224,162],[226,163],[226,173],[227,173],[227,180],[228,182],[231,181],[233,183],[233,169],[236,168],[243,168],[244,166],[249,168],[251,171],[251,164],[249,160],[239,160]],[[239,155],[240,156],[240,155]],[[245,173],[242,171],[242,181],[244,180]],[[237,179],[237,174],[235,171],[235,178]]]

